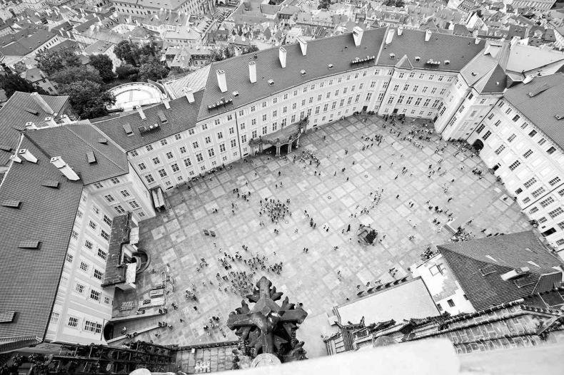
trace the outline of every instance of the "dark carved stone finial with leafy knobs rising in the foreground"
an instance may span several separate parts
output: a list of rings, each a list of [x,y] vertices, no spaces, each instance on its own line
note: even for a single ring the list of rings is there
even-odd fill
[[[253,359],[251,366],[274,364],[276,359],[278,363],[306,359],[303,341],[296,339],[296,330],[308,313],[289,303],[288,297],[281,306],[274,302],[283,293],[276,292],[266,277],[261,277],[256,287],[247,296],[249,302],[254,302],[253,307],[242,300],[241,307],[231,312],[227,320],[227,327],[241,341],[242,354]]]

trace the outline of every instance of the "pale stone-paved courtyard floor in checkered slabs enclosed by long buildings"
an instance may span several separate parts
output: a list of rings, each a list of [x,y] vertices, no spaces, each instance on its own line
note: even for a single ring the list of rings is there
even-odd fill
[[[400,125],[402,137],[409,128],[408,123],[411,124],[411,120]],[[233,168],[196,183],[191,190],[171,190],[168,202],[172,208],[141,223],[139,247],[151,253],[149,268],[161,269],[163,264],[170,264],[176,286],[175,292],[168,295],[168,305],[176,302],[179,308],[169,307],[168,314],[160,319],[140,319],[126,324],[129,332],[166,320],[173,324],[172,330],[161,329],[158,337],[154,331],[141,334],[139,339],[180,345],[226,340],[218,329],[208,336],[203,325],[208,322],[208,317],[215,315],[221,317],[223,326],[228,313],[240,305],[241,297],[218,290],[216,273],[223,275],[226,271],[216,258],[220,255],[218,250],[233,256],[239,251],[246,256],[241,248],[244,244],[249,252],[266,255],[271,263],[283,262],[280,275],[258,272],[256,280],[266,274],[291,302],[303,303],[308,319],[317,327],[306,328],[306,319],[302,329],[298,330],[298,339],[306,341],[309,356],[323,355],[319,334],[328,332],[326,314],[334,305],[345,302],[346,298],[353,299],[358,284],[365,285],[378,279],[389,281],[388,269],[392,267],[398,269],[396,277],[408,274],[408,267],[420,261],[425,247],[448,241],[450,232],[444,228],[438,232],[438,227],[433,224],[435,217],[444,224],[445,215],[435,215],[428,210],[427,200],[455,212],[455,225],[472,219],[468,228],[476,237],[485,235],[480,232],[484,228],[488,228],[485,233],[518,232],[530,228],[518,206],[510,199],[503,200],[502,185],[487,172],[478,157],[470,158],[468,151],[454,155],[456,148],[453,144],[448,145],[443,155],[438,155],[434,153],[438,143],[436,135],[432,136],[431,142],[421,141],[425,145],[421,149],[408,140],[399,140],[391,134],[389,126],[383,129],[382,124],[383,120],[376,116],[368,118],[366,123],[350,117],[303,136],[301,147],[289,157],[292,158],[294,153],[301,155],[305,149],[313,151],[321,160],[317,169],[321,177],[314,174],[316,169],[309,163],[293,164],[289,160],[261,155],[252,158],[253,163],[236,163]],[[374,143],[363,151],[363,145],[371,143],[364,141],[363,135],[375,134],[384,135],[381,145]],[[436,168],[440,158],[444,158],[440,172],[446,170],[447,173],[443,176],[435,173],[428,178],[428,166],[433,164]],[[476,166],[485,171],[485,178],[478,180],[472,173]],[[405,175],[401,173],[403,167],[408,168]],[[341,172],[343,168],[346,170]],[[278,177],[279,171],[281,177]],[[455,182],[450,183],[453,179]],[[251,191],[250,202],[238,200],[232,192],[233,188],[243,188],[246,183]],[[448,185],[446,194],[444,184]],[[357,206],[358,211],[370,205],[370,192],[382,188],[379,205],[368,215],[351,218],[351,212],[355,212]],[[271,197],[284,201],[291,199],[293,215],[281,225],[276,226],[268,222],[267,217],[258,215],[258,200]],[[449,197],[453,200],[447,202]],[[236,215],[231,213],[231,202],[238,205]],[[414,202],[413,207],[410,202]],[[219,212],[213,213],[214,208]],[[310,227],[303,210],[313,217],[316,229]],[[266,222],[265,227],[259,226],[260,220]],[[379,238],[383,235],[386,238],[375,246],[358,244],[351,233],[358,228],[359,220],[376,228]],[[341,230],[349,223],[351,233],[342,234]],[[324,225],[330,228],[328,232],[323,230]],[[275,227],[280,231],[278,235],[273,232]],[[217,237],[204,236],[203,229],[216,231]],[[410,235],[416,237],[409,240]],[[338,246],[338,250],[333,250],[334,246]],[[308,254],[302,252],[303,247],[308,247]],[[196,272],[202,257],[209,266]],[[246,264],[235,262],[231,270],[249,269]],[[338,271],[343,276],[341,281],[337,278]],[[136,295],[116,296],[114,305],[146,297],[151,283],[158,279],[160,274],[145,272],[137,283]],[[214,285],[209,284],[210,280]],[[183,298],[183,291],[191,284],[196,285],[198,312],[193,310],[194,303]],[[326,327],[321,327],[323,324]],[[236,339],[224,326],[223,331],[227,339]]]

